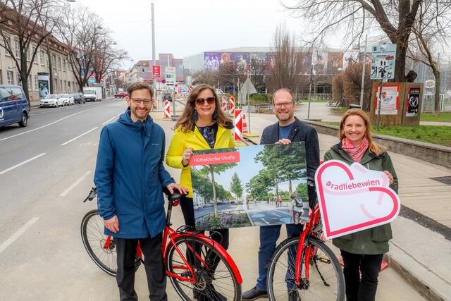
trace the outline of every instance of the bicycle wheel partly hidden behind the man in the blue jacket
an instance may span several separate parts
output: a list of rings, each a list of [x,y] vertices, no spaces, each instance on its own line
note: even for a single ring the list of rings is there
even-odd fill
[[[116,245],[114,238],[104,234],[104,220],[99,216],[97,209],[89,211],[82,219],[80,227],[83,245],[89,257],[102,271],[116,276],[118,269],[116,258]],[[109,240],[109,243],[106,241]]]

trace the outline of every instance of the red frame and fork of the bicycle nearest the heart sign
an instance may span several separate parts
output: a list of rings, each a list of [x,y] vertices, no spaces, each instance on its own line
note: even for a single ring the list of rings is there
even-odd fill
[[[309,262],[311,257],[314,255],[314,250],[312,250],[311,247],[305,248],[304,252],[304,245],[306,239],[310,235],[313,235],[316,237],[316,233],[314,231],[311,231],[312,228],[319,223],[319,205],[316,204],[314,211],[310,215],[310,221],[305,224],[304,231],[302,231],[301,236],[299,238],[299,245],[297,246],[297,253],[296,253],[296,285],[298,287],[301,286],[301,268],[302,268],[302,262],[304,262],[305,266],[305,278],[309,279]]]

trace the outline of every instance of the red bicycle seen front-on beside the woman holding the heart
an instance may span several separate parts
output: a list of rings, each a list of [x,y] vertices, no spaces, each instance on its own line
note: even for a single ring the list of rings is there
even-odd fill
[[[345,276],[332,250],[321,240],[316,205],[299,237],[280,242],[268,268],[270,300],[345,300]]]

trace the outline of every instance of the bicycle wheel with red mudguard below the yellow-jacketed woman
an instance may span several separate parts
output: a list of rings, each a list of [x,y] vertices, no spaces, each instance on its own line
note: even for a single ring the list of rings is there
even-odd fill
[[[174,245],[188,262],[192,262],[190,266],[196,277],[193,283],[168,275],[182,300],[241,300],[241,284],[233,274],[230,264],[213,245],[195,236],[180,236],[175,239]],[[166,271],[191,278],[187,265],[174,245],[170,243],[166,250]],[[192,252],[188,251],[189,246],[191,250],[197,250],[202,260],[192,256]],[[214,266],[213,262],[217,264],[212,274],[209,266]]]

